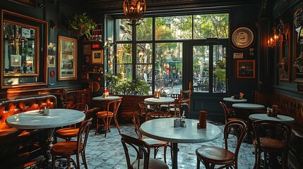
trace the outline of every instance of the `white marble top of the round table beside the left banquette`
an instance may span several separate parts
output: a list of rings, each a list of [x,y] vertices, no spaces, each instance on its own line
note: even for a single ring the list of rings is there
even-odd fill
[[[11,115],[6,118],[6,123],[10,127],[20,129],[45,129],[73,125],[83,121],[85,114],[66,108],[49,109],[49,115],[43,115],[43,111],[27,111]]]

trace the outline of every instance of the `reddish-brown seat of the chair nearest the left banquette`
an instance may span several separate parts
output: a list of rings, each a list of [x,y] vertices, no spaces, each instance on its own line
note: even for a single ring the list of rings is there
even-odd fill
[[[80,151],[83,149],[83,144],[80,144]],[[77,150],[77,142],[76,141],[66,141],[66,142],[59,142],[54,144],[50,149],[52,154],[56,154],[56,156],[71,156],[76,154]]]

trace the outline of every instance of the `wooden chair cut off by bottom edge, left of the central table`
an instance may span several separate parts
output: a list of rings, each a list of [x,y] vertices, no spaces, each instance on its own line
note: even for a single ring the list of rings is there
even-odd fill
[[[141,139],[130,137],[125,134],[121,134],[121,143],[124,148],[127,168],[133,169],[168,169],[168,165],[158,159],[150,158],[150,145]],[[132,148],[132,149],[131,149]],[[133,150],[134,151],[131,151]],[[136,152],[136,159],[131,161],[129,153]]]

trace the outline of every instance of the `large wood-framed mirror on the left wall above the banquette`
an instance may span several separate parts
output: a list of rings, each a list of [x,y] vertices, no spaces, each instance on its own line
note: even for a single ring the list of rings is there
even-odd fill
[[[47,22],[1,11],[1,87],[46,84]]]

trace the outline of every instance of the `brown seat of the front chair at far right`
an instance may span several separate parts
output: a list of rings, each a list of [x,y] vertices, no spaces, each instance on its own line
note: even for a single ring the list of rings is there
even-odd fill
[[[256,139],[254,139],[253,143],[256,145]],[[284,147],[284,142],[281,142],[277,139],[271,139],[267,137],[260,137],[260,146],[263,149],[270,151],[281,151]]]

